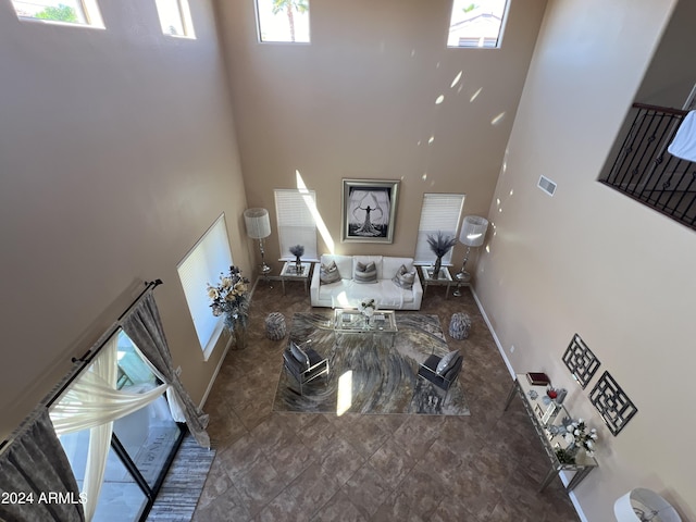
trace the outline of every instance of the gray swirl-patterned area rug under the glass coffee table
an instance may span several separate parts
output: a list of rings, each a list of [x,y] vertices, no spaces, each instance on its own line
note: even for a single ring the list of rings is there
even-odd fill
[[[469,415],[461,380],[445,393],[418,377],[431,353],[450,351],[437,315],[397,313],[397,333],[337,333],[332,318],[333,311],[294,315],[289,338],[309,341],[328,359],[330,373],[299,395],[297,382],[282,371],[274,411]]]

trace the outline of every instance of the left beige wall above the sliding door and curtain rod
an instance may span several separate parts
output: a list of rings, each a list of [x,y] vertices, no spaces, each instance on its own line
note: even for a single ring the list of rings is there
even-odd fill
[[[198,39],[161,34],[154,2],[102,0],[105,30],[22,23],[0,2],[0,436],[142,288],[201,400],[202,355],[176,264],[223,211],[250,269],[245,208],[212,8]]]

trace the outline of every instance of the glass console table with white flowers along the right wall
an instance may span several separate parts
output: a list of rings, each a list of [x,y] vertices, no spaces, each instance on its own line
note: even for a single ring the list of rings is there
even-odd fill
[[[593,451],[597,439],[596,430],[587,428],[582,419],[573,420],[564,406],[549,398],[546,385],[532,385],[524,373],[515,375],[505,405],[506,410],[515,395],[522,399],[551,464],[542,481],[539,492],[543,492],[561,471],[570,471],[574,472],[566,486],[566,490],[570,493],[599,465]]]

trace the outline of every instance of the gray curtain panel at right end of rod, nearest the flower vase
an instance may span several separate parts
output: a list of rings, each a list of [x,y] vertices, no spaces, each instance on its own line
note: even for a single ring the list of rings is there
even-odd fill
[[[210,448],[210,437],[208,427],[209,417],[198,408],[190,396],[184,389],[178,375],[174,371],[172,355],[166,345],[160,312],[154,302],[154,296],[150,291],[133,310],[121,321],[123,331],[130,337],[135,345],[142,351],[150,362],[164,376],[167,384],[171,384],[184,406],[184,417],[186,425],[196,438],[196,442],[203,448]]]

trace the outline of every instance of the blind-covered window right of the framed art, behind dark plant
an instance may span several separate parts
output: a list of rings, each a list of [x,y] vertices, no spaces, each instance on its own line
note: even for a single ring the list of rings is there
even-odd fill
[[[445,236],[458,237],[464,198],[463,194],[426,192],[423,195],[413,264],[431,265],[435,262],[435,254],[427,244],[428,235],[442,232]],[[443,257],[443,266],[452,265],[453,250],[453,247],[450,248],[449,252]]]

